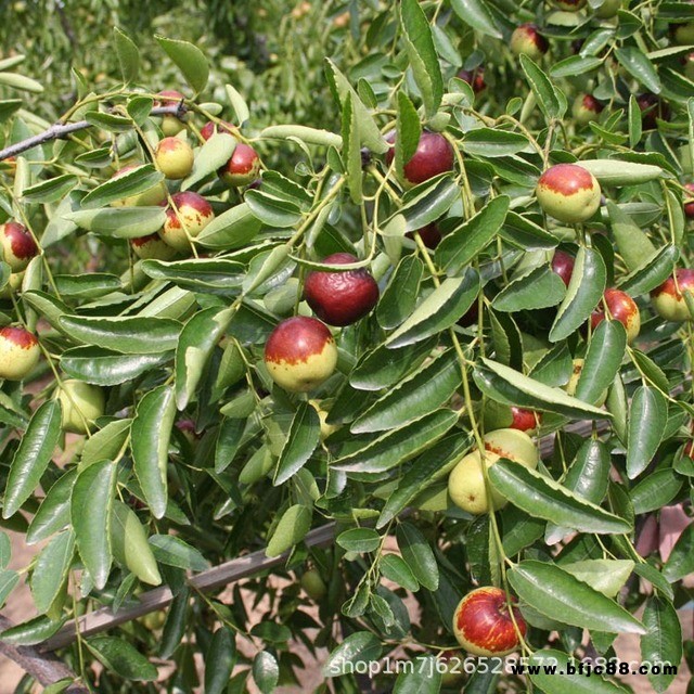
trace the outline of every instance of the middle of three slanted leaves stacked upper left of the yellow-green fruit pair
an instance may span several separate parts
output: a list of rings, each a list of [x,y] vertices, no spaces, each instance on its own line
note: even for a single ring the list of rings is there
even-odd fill
[[[333,463],[347,473],[382,473],[426,449],[458,422],[458,413],[442,408],[400,428],[388,430],[363,448]]]

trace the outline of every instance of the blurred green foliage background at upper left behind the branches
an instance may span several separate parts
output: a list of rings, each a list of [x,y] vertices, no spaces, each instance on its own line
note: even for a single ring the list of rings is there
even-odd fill
[[[90,89],[103,92],[119,81],[113,27],[121,27],[141,52],[150,88],[183,89],[174,64],[162,56],[153,34],[195,43],[207,55],[209,95],[223,101],[233,83],[253,103],[254,126],[309,121],[337,113],[330,99],[323,57],[337,63],[345,53],[359,59],[349,35],[359,36],[359,3],[329,0],[16,0],[0,2],[0,57],[25,55],[20,72],[41,81],[44,92],[25,94],[25,103],[55,120],[75,101],[78,69]],[[378,2],[362,2],[377,9]],[[327,30],[326,30],[327,29]],[[15,91],[0,88],[3,98]],[[184,89],[183,89],[184,91]],[[320,114],[319,120],[316,120]],[[329,114],[331,114],[329,116]]]

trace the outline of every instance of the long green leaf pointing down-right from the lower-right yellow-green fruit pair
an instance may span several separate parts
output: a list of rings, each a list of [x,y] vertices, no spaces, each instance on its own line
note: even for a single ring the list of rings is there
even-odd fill
[[[518,463],[498,461],[489,468],[489,480],[511,503],[536,518],[599,535],[624,534],[631,528],[625,519]]]

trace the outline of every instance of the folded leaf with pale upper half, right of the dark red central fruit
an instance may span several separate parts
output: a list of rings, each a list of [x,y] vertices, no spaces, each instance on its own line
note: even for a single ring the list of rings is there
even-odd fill
[[[479,293],[479,277],[467,268],[462,278],[447,278],[386,340],[389,349],[419,343],[451,327]]]

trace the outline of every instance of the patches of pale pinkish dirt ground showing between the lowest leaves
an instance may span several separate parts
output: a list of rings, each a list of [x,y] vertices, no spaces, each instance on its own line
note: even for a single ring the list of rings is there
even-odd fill
[[[15,569],[24,568],[31,561],[37,548],[27,548],[22,542],[20,536],[12,536],[12,542],[13,556],[10,566]],[[26,584],[20,583],[12,593],[10,602],[2,609],[2,614],[15,622],[35,616],[31,596]],[[682,622],[684,639],[694,639],[694,609],[690,607],[686,611],[681,611],[680,621]],[[615,642],[615,650],[620,660],[641,660],[639,638],[635,635],[620,635]],[[307,692],[311,692],[321,682],[321,664],[316,663],[314,667],[311,667],[311,656],[300,643],[296,644],[296,653],[307,664],[307,669],[298,673],[301,685],[281,687],[278,690],[280,694],[306,694]],[[0,694],[13,694],[22,676],[23,671],[14,663],[0,655]],[[646,694],[654,691],[645,676],[629,676],[625,678],[624,681],[629,684],[637,694]],[[682,663],[678,678],[667,690],[668,694],[684,694],[689,681],[690,672],[684,663]],[[256,694],[253,684],[250,684],[248,691],[250,694]]]

